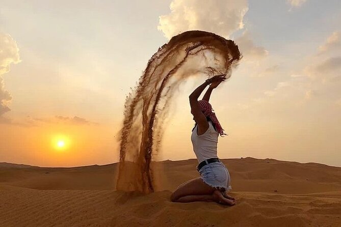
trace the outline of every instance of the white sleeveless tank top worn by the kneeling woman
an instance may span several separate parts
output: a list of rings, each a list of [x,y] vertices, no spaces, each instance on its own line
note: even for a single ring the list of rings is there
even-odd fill
[[[208,125],[207,131],[202,135],[197,133],[198,125],[192,131],[193,151],[199,163],[208,158],[218,158],[217,145],[219,133],[214,129],[212,122],[209,121]]]

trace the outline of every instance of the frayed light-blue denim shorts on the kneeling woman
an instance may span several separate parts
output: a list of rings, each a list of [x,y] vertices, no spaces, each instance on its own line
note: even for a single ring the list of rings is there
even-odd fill
[[[231,190],[230,174],[222,162],[213,162],[204,165],[200,171],[200,178],[207,185],[217,188],[221,191]]]

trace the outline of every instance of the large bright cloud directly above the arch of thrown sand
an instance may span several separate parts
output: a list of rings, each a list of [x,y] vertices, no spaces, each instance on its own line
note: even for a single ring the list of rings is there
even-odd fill
[[[247,0],[173,0],[171,13],[159,17],[158,30],[171,39],[189,30],[204,30],[228,38],[244,27]]]

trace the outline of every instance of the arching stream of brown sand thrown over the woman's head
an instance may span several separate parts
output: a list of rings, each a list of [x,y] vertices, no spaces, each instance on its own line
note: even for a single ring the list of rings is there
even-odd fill
[[[117,190],[154,191],[151,160],[159,151],[163,122],[179,84],[203,74],[229,78],[240,59],[233,41],[203,31],[179,34],[159,48],[126,98]]]

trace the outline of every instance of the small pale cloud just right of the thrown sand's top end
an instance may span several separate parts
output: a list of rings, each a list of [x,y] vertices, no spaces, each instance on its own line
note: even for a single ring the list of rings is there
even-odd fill
[[[269,51],[264,47],[256,46],[254,44],[248,31],[244,32],[242,36],[235,39],[235,43],[237,43],[239,46],[245,60],[258,61],[265,58],[269,54]]]

